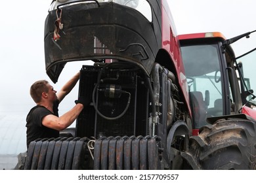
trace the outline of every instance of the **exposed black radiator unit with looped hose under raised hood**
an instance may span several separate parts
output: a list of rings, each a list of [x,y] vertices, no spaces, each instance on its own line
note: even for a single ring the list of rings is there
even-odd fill
[[[80,72],[79,97],[87,97],[90,105],[77,118],[77,137],[148,134],[149,92],[138,69],[95,63]]]

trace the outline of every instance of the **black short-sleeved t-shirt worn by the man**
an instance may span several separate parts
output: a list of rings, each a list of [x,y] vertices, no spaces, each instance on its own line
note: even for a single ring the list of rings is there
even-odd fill
[[[58,130],[51,129],[42,125],[43,117],[49,114],[58,116],[58,101],[54,103],[53,111],[54,113],[41,105],[37,105],[33,107],[30,112],[28,112],[28,116],[26,118],[27,147],[29,146],[30,142],[35,141],[36,139],[51,137],[57,138],[60,136],[60,132]]]

